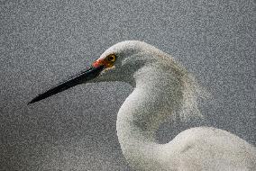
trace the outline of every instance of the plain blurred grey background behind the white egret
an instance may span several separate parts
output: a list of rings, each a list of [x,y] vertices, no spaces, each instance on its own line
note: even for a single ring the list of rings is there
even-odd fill
[[[212,94],[206,125],[255,146],[255,16],[249,0],[1,0],[0,170],[130,170],[115,134],[130,85],[78,85],[26,104],[122,40],[177,58]],[[165,124],[158,139],[184,129]]]

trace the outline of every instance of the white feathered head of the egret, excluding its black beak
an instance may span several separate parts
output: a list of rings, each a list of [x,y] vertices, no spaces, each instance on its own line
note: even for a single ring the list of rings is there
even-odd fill
[[[104,66],[95,79],[88,82],[123,81],[134,85],[133,74],[145,65],[151,65],[161,51],[138,40],[126,40],[106,49],[93,63],[93,67]]]

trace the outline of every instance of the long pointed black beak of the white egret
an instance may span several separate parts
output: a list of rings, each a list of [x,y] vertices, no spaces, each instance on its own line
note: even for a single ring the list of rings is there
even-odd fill
[[[85,83],[88,80],[91,80],[91,79],[95,78],[96,76],[98,76],[103,69],[104,69],[104,66],[89,67],[87,70],[82,71],[81,73],[79,73],[76,76],[73,76],[68,81],[64,81],[63,83],[60,83],[59,85],[57,85],[53,88],[50,88],[50,90],[46,91],[43,94],[38,94],[28,104],[41,101],[42,99],[50,97],[51,95],[58,94],[59,92],[63,92],[73,86]]]

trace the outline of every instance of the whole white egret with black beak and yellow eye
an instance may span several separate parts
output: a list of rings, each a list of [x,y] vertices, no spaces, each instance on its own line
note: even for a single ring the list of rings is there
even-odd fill
[[[160,144],[163,121],[201,118],[197,98],[204,96],[195,76],[168,53],[140,40],[114,44],[91,67],[37,95],[35,103],[75,85],[124,82],[133,86],[117,113],[116,133],[134,170],[256,170],[256,149],[231,132],[198,126]]]

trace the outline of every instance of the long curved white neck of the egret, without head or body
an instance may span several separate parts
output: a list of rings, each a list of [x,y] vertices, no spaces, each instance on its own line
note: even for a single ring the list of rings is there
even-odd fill
[[[185,73],[177,71],[157,65],[139,69],[134,73],[133,93],[118,112],[116,129],[123,155],[137,169],[160,169],[158,157],[163,145],[155,139],[156,130],[169,115],[181,115],[181,104],[189,96]]]

